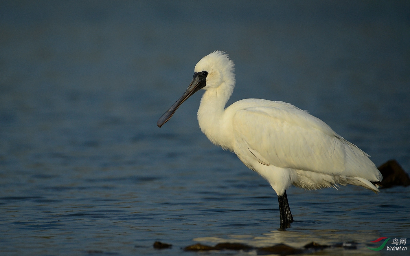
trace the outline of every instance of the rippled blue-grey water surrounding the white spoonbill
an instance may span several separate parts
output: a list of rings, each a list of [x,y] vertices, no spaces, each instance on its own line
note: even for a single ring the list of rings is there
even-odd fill
[[[355,241],[357,250],[331,253],[393,255],[364,246],[410,238],[410,187],[293,187],[296,222],[277,231],[269,184],[200,132],[201,92],[162,128],[156,121],[195,64],[225,50],[237,74],[228,104],[292,103],[376,165],[394,158],[409,171],[409,10],[407,1],[1,1],[0,254]],[[155,250],[156,240],[173,247]]]

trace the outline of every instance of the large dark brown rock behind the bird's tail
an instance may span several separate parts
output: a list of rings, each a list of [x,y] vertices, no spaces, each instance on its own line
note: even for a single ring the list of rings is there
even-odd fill
[[[396,160],[389,160],[378,167],[380,173],[383,175],[383,187],[389,188],[393,186],[408,186],[410,185],[410,178],[408,174],[401,168]]]

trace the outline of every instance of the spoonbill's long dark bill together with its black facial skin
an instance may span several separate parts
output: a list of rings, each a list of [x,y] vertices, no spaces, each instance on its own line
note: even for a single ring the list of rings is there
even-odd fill
[[[178,107],[184,103],[192,94],[196,93],[198,90],[202,89],[206,86],[206,77],[208,75],[207,71],[202,72],[195,72],[194,78],[192,78],[191,84],[189,84],[188,89],[185,91],[184,94],[175,102],[172,107],[167,110],[162,117],[159,118],[157,121],[157,126],[161,127],[166,123],[169,119],[171,119],[172,115],[178,109]]]

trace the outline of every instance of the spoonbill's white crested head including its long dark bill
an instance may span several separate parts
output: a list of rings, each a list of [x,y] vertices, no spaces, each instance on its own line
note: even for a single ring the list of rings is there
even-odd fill
[[[228,90],[232,93],[235,85],[234,64],[228,55],[221,51],[214,51],[203,57],[195,66],[194,78],[184,94],[169,108],[157,121],[161,127],[192,94],[200,89],[218,89],[223,84],[229,84]]]

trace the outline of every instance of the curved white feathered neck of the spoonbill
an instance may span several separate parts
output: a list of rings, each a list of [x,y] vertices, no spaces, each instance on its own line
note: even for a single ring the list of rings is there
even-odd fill
[[[215,145],[230,149],[229,131],[225,125],[225,105],[234,85],[223,83],[218,88],[208,89],[201,98],[198,109],[198,123],[202,132]]]

